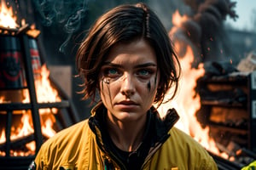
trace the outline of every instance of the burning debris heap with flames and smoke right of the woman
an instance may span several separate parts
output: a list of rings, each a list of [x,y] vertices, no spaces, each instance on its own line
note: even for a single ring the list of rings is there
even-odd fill
[[[255,157],[238,153],[255,150],[256,142],[252,133],[255,117],[251,118],[255,109],[250,108],[254,89],[250,81],[254,79],[233,64],[223,26],[227,16],[236,20],[236,3],[186,3],[193,13],[181,16],[176,11],[169,32],[183,69],[181,90],[172,103],[160,105],[159,111],[174,107],[181,117],[177,127],[201,143],[220,169],[241,169]]]

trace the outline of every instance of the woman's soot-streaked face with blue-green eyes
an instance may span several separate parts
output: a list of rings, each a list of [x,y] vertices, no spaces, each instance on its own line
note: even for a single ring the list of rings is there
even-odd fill
[[[117,44],[100,71],[100,94],[108,117],[120,122],[146,116],[154,102],[160,73],[154,49],[138,40]]]

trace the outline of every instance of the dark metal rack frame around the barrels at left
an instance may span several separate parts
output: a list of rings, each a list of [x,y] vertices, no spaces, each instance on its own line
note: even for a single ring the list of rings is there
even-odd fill
[[[35,80],[34,80],[34,73],[32,68],[32,56],[30,53],[30,44],[29,41],[32,37],[29,37],[26,32],[19,33],[15,35],[0,35],[1,38],[5,37],[15,37],[20,42],[20,52],[21,57],[24,64],[24,71],[26,77],[26,86],[19,87],[19,88],[8,88],[7,89],[0,89],[5,90],[8,94],[9,90],[20,90],[20,89],[27,89],[29,92],[30,103],[21,103],[21,102],[11,102],[11,103],[0,103],[0,111],[6,114],[6,125],[5,125],[5,136],[6,141],[3,144],[0,144],[0,150],[5,152],[5,156],[0,156],[1,168],[4,169],[27,169],[28,165],[34,159],[34,156],[11,156],[10,150],[15,146],[15,143],[11,141],[11,127],[13,121],[13,114],[14,111],[31,111],[32,113],[32,125],[34,128],[34,133],[28,136],[25,140],[26,141],[35,141],[36,144],[36,153],[40,149],[41,144],[44,143],[44,136],[42,134],[41,129],[41,122],[40,122],[40,115],[39,109],[44,108],[57,108],[60,110],[64,110],[65,112],[60,113],[58,112],[55,115],[55,118],[61,122],[61,128],[65,128],[69,126],[65,119],[68,119],[69,122],[79,122],[79,116],[76,113],[75,108],[70,99],[68,99],[67,94],[63,92],[63,90],[58,87],[57,83],[51,80],[51,83],[55,88],[58,89],[58,94],[61,97],[61,102],[52,102],[52,103],[38,103],[36,88],[35,88]],[[61,121],[60,121],[61,120]],[[3,121],[3,120],[2,120]],[[24,143],[24,142],[23,142]],[[15,162],[15,163],[14,163]]]

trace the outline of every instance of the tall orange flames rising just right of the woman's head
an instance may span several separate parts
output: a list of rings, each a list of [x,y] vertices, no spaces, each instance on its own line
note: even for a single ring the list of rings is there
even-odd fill
[[[172,35],[177,31],[179,26],[182,26],[183,21],[189,20],[187,16],[181,16],[178,11],[176,11],[172,17],[174,27],[170,31],[170,37],[172,37]],[[196,112],[201,109],[201,98],[199,94],[196,94],[195,92],[197,84],[196,81],[198,78],[204,76],[205,70],[203,68],[203,64],[198,65],[197,68],[192,67],[195,56],[193,53],[193,48],[190,45],[191,44],[188,43],[184,48],[184,46],[181,46],[180,42],[174,42],[174,46],[177,49],[177,54],[183,55],[178,56],[182,67],[179,91],[175,99],[173,99],[171,102],[160,105],[158,110],[160,111],[160,115],[164,116],[168,109],[175,108],[180,116],[180,120],[175,125],[177,128],[183,130],[185,133],[188,133],[213,154],[227,159],[228,155],[225,153],[220,153],[214,139],[210,137],[209,127],[201,127],[201,123],[198,122],[196,118]],[[171,95],[172,91],[169,93]],[[166,97],[168,97],[168,95],[166,95]]]

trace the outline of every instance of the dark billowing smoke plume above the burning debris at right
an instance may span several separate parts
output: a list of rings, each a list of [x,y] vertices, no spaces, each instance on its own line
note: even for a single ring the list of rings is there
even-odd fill
[[[172,28],[174,41],[182,41],[189,45],[195,53],[196,63],[206,61],[229,60],[231,55],[230,42],[224,30],[224,20],[230,16],[233,20],[238,17],[233,8],[236,3],[230,0],[184,1],[190,8],[188,20],[181,26]]]

